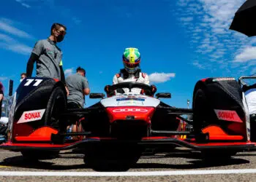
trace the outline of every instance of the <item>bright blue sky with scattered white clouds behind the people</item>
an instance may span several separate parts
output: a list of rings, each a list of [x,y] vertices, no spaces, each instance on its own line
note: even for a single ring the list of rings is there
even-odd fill
[[[198,79],[256,72],[256,39],[228,30],[244,0],[3,0],[0,11],[0,81],[6,87],[26,71],[32,47],[52,23],[67,25],[59,44],[67,75],[86,68],[91,92],[104,92],[123,64],[126,47],[138,47],[141,68],[164,100],[187,107]],[[35,65],[34,65],[35,68]],[[34,71],[35,74],[35,71]],[[86,97],[87,106],[98,100]]]

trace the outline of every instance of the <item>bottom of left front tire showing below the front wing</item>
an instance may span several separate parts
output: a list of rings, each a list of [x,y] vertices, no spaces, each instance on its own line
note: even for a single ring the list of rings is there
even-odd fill
[[[55,159],[59,157],[59,151],[20,151],[23,157],[29,161],[40,159]]]

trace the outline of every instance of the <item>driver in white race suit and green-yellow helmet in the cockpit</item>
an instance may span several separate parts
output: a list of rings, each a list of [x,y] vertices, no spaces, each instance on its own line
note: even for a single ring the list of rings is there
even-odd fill
[[[126,48],[123,53],[124,68],[120,70],[118,74],[113,77],[113,84],[123,82],[140,82],[149,85],[148,75],[140,70],[140,52],[137,48]],[[124,88],[123,92],[129,92],[128,88]],[[121,92],[117,90],[117,92]],[[143,90],[139,88],[133,88],[134,93],[143,93]]]

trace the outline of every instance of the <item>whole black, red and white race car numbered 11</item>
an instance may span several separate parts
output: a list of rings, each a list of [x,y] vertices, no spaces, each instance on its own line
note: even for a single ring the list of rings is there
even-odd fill
[[[198,81],[192,109],[167,105],[160,98],[170,93],[156,94],[154,85],[124,82],[105,86],[105,92],[91,93],[99,101],[88,108],[70,109],[58,80],[24,79],[10,111],[8,140],[0,149],[20,151],[26,159],[53,159],[61,150],[80,149],[92,168],[120,170],[134,165],[146,149],[183,146],[201,151],[204,159],[220,159],[255,148],[244,94],[234,78]],[[74,123],[83,131],[67,132]]]

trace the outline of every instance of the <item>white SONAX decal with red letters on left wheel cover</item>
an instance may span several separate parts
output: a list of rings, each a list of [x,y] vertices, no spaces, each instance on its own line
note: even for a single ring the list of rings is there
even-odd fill
[[[39,109],[34,111],[25,111],[21,115],[20,119],[18,120],[18,124],[25,123],[25,122],[34,122],[37,120],[42,119],[42,116],[45,113],[45,109]]]

